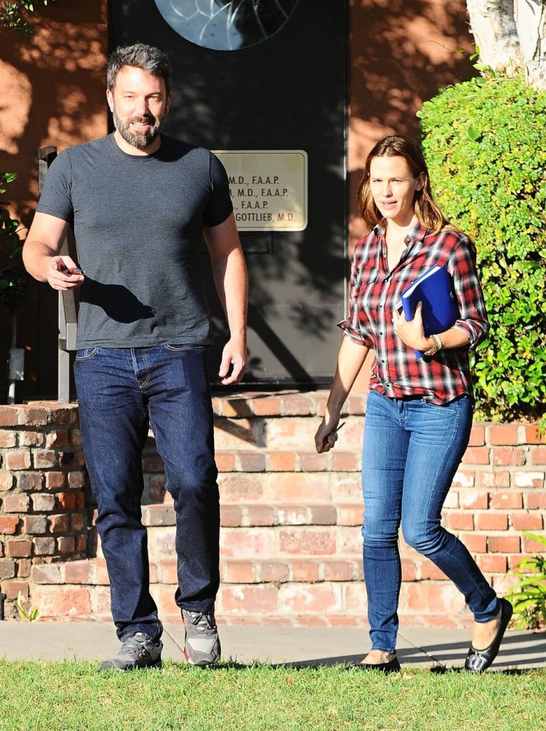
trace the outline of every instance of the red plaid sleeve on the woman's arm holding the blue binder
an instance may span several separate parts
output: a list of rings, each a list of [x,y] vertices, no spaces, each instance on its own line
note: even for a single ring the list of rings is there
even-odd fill
[[[447,270],[452,277],[460,312],[453,327],[463,330],[469,338],[470,349],[474,350],[488,335],[489,321],[477,273],[476,247],[466,236],[461,237],[458,246],[452,250]]]

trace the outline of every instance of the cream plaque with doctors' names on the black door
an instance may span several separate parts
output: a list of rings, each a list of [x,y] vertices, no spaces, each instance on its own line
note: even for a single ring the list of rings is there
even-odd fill
[[[215,151],[230,178],[240,231],[307,227],[307,153],[303,150]]]

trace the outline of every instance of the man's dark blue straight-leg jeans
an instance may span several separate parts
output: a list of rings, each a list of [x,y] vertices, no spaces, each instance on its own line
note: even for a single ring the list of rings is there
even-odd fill
[[[207,611],[219,587],[219,491],[206,348],[161,345],[77,352],[86,466],[98,505],[118,637],[162,634],[142,524],[142,452],[151,425],[174,499],[178,607]]]

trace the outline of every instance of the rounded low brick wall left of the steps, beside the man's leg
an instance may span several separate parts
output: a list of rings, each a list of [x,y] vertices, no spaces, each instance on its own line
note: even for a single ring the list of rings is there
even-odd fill
[[[86,557],[85,466],[77,406],[0,406],[0,589],[7,618],[41,564]]]

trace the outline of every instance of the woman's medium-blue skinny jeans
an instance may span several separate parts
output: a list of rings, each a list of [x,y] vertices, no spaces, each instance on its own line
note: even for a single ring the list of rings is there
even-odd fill
[[[474,401],[445,406],[371,391],[366,406],[362,485],[364,578],[373,650],[393,653],[401,561],[398,529],[464,595],[474,620],[498,612],[498,599],[469,551],[441,526],[441,509],[463,458]]]

